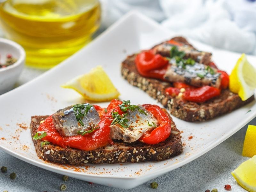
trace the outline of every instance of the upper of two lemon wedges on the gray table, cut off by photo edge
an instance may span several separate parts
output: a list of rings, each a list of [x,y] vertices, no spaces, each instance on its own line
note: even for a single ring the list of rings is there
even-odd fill
[[[244,147],[243,147],[242,155],[247,157],[252,157],[256,155],[256,126],[255,125],[248,125],[245,138],[244,138]]]

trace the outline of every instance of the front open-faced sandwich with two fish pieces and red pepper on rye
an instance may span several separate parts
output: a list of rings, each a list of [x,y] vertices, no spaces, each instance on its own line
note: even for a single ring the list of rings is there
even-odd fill
[[[112,100],[107,108],[90,103],[31,117],[37,156],[60,164],[160,161],[182,152],[180,131],[157,105]]]

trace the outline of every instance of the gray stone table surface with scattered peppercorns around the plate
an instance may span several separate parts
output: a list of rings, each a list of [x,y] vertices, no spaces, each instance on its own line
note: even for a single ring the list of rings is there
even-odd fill
[[[28,82],[43,72],[44,70],[24,68],[16,86]],[[249,124],[256,125],[256,118]],[[7,173],[0,172],[0,192],[4,190],[9,192],[53,192],[60,191],[61,184],[67,185],[67,192],[204,192],[206,189],[212,190],[213,188],[217,188],[219,192],[224,192],[226,191],[224,189],[225,184],[231,185],[234,192],[246,191],[238,185],[230,174],[239,164],[249,159],[241,155],[246,130],[247,125],[196,160],[129,190],[90,184],[73,178],[69,178],[68,181],[64,182],[61,179],[62,175],[25,163],[0,150],[0,166],[8,167]],[[10,179],[11,172],[16,172],[17,177],[15,180]],[[158,183],[157,189],[150,188],[150,183],[153,181]]]

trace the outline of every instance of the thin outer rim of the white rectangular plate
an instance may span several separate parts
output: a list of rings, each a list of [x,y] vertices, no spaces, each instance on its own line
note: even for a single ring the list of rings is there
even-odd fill
[[[0,96],[0,100],[1,100],[2,98],[6,97],[6,95],[8,96],[9,93],[15,92],[15,91],[18,90],[18,89],[22,89],[23,86],[29,86],[30,83],[33,83],[33,82],[36,81],[38,78],[44,78],[45,75],[48,75],[48,74],[50,74],[50,73],[54,73],[55,70],[58,70],[59,68],[61,68],[63,62],[68,62],[68,60],[72,59],[73,57],[76,57],[76,54],[78,54],[79,52],[82,52],[84,49],[90,49],[90,46],[91,46],[91,44],[93,44],[93,42],[98,41],[98,39],[100,39],[101,36],[105,36],[106,34],[111,33],[111,31],[115,30],[115,28],[118,27],[120,23],[123,23],[123,22],[125,22],[126,20],[129,20],[129,19],[132,18],[132,17],[135,17],[135,18],[139,18],[139,19],[141,19],[141,20],[144,20],[145,22],[148,22],[148,24],[151,25],[151,26],[154,27],[154,28],[157,27],[157,28],[163,29],[163,30],[166,31],[166,32],[170,32],[170,30],[168,30],[168,29],[162,27],[162,26],[159,25],[156,21],[149,19],[148,17],[146,17],[145,15],[141,14],[140,12],[131,11],[131,12],[125,14],[122,18],[120,18],[116,23],[114,23],[112,26],[110,26],[108,29],[106,29],[106,30],[105,30],[103,33],[101,33],[98,37],[96,37],[96,38],[94,39],[94,41],[92,41],[92,43],[88,44],[86,47],[82,48],[80,51],[76,52],[74,55],[72,55],[72,56],[69,57],[68,59],[62,61],[58,66],[56,66],[56,67],[54,67],[54,68],[52,68],[52,69],[50,69],[50,70],[44,72],[42,75],[40,75],[40,76],[34,78],[33,80],[31,80],[31,81],[29,81],[29,82],[27,82],[27,83],[25,83],[25,84],[23,84],[23,85],[21,85],[21,86],[15,88],[15,89],[13,89],[12,91],[7,92],[7,93],[4,93],[3,95]],[[173,35],[173,34],[172,34],[172,35]],[[171,36],[172,36],[172,35],[171,35]],[[189,39],[189,38],[188,38],[188,39]],[[224,51],[227,51],[227,50],[224,50]],[[254,57],[255,57],[255,56],[254,56]],[[218,117],[217,117],[217,118],[218,118]],[[8,149],[8,148],[2,146],[1,144],[0,144],[0,148],[3,149],[6,153],[8,153],[8,154],[10,154],[10,155],[12,155],[12,156],[14,156],[14,157],[16,157],[16,158],[22,160],[22,161],[25,161],[25,162],[27,162],[27,163],[29,163],[29,164],[33,164],[33,165],[35,165],[35,166],[37,166],[37,167],[40,167],[40,168],[44,168],[44,169],[49,170],[49,171],[52,171],[52,170],[50,170],[50,169],[54,169],[55,171],[58,171],[58,172],[59,172],[59,171],[60,171],[60,172],[65,172],[65,173],[71,173],[71,172],[72,172],[71,174],[74,174],[74,175],[77,175],[77,176],[83,176],[83,177],[86,176],[86,177],[93,177],[93,178],[113,178],[113,179],[114,179],[114,178],[117,178],[117,179],[124,179],[124,180],[134,180],[134,179],[136,179],[136,180],[142,180],[142,178],[144,178],[144,180],[145,180],[145,179],[149,178],[150,175],[152,175],[152,174],[154,174],[154,173],[156,173],[156,174],[154,174],[154,175],[156,175],[156,176],[163,175],[163,174],[165,174],[165,173],[167,173],[167,172],[170,172],[170,171],[172,171],[172,170],[174,170],[174,169],[177,169],[177,168],[179,168],[179,167],[181,167],[181,166],[183,166],[183,165],[185,165],[185,164],[188,164],[189,162],[195,160],[196,158],[198,158],[198,157],[204,155],[205,153],[207,153],[208,151],[210,151],[212,148],[218,146],[218,145],[219,145],[220,143],[222,143],[224,140],[228,139],[228,138],[229,138],[230,136],[232,136],[234,133],[236,133],[237,131],[239,131],[245,124],[247,124],[248,122],[250,122],[253,118],[255,118],[255,114],[254,114],[254,113],[248,115],[248,116],[245,118],[245,120],[244,120],[243,122],[240,122],[240,124],[236,126],[236,127],[237,127],[236,129],[230,130],[230,131],[228,132],[229,134],[226,134],[226,135],[222,136],[221,139],[219,139],[217,142],[214,142],[214,143],[210,144],[209,146],[207,146],[206,148],[203,148],[202,150],[200,150],[200,152],[196,153],[195,155],[189,156],[188,158],[183,159],[182,162],[175,164],[174,166],[172,166],[172,167],[169,168],[169,169],[168,169],[168,167],[165,167],[164,169],[161,168],[161,171],[155,169],[155,170],[152,170],[152,171],[150,172],[150,174],[134,175],[134,176],[131,176],[131,177],[130,177],[130,176],[129,176],[129,177],[120,177],[120,176],[117,177],[117,176],[109,176],[109,175],[108,175],[108,176],[104,176],[104,175],[93,175],[93,174],[84,173],[84,172],[75,172],[75,171],[72,171],[72,170],[65,170],[65,169],[62,169],[62,168],[59,168],[59,167],[56,167],[56,166],[52,166],[52,165],[50,165],[50,164],[45,164],[44,162],[39,162],[39,161],[30,159],[30,158],[28,158],[28,157],[26,157],[26,156],[22,156],[21,154],[15,154],[15,152],[13,152],[12,150],[10,150],[10,149]],[[178,165],[178,166],[177,166],[177,165]],[[140,185],[140,184],[141,184],[141,183],[137,183],[137,185]],[[136,186],[137,186],[137,185],[136,185]]]

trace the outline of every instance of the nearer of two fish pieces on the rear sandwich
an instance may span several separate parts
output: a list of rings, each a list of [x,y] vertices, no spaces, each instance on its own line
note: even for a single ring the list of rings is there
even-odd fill
[[[186,65],[185,68],[177,66],[175,59],[170,61],[169,68],[164,74],[164,79],[169,82],[181,82],[196,87],[209,85],[219,88],[221,83],[220,73],[217,73],[216,69],[212,69],[214,74],[207,71],[207,66],[201,63],[195,63],[194,65]],[[197,74],[204,74],[201,78]]]

